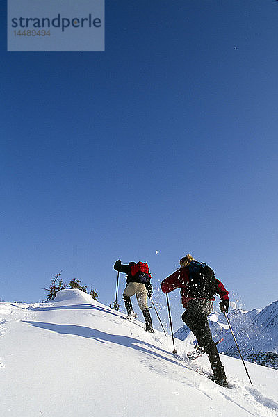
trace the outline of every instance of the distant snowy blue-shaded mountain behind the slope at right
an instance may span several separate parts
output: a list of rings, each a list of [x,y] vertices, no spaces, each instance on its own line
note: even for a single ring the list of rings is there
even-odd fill
[[[272,302],[263,310],[231,310],[228,317],[243,358],[278,369],[278,301]],[[215,341],[224,338],[219,350],[231,357],[239,357],[224,315],[211,313],[208,323]],[[195,340],[186,325],[177,330],[174,336],[188,343]]]

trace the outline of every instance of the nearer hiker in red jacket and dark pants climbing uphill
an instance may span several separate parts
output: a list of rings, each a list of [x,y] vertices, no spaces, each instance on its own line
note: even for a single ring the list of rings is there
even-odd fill
[[[213,379],[218,384],[227,384],[224,367],[220,361],[217,347],[213,342],[207,316],[213,309],[213,295],[219,295],[220,311],[229,309],[229,292],[222,282],[215,278],[213,270],[205,263],[199,263],[187,254],[180,260],[181,268],[161,283],[163,293],[181,288],[181,302],[186,311],[181,316],[183,322],[197,338],[198,348],[208,354],[213,370]],[[204,279],[206,276],[206,279]]]

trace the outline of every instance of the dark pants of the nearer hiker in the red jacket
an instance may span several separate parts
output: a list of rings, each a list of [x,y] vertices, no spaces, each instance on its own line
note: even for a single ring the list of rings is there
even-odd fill
[[[215,377],[226,379],[217,347],[213,342],[211,329],[208,326],[207,316],[211,313],[212,308],[213,302],[210,300],[190,300],[188,309],[181,318],[197,338],[198,345],[206,350]]]

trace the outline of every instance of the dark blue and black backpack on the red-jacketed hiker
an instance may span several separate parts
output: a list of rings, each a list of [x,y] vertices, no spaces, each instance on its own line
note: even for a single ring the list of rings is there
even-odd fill
[[[197,298],[211,298],[218,283],[214,271],[204,262],[191,261],[188,265],[190,295]]]

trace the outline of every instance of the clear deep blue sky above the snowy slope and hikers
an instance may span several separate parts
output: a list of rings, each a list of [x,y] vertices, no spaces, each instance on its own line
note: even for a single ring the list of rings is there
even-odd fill
[[[63,270],[108,304],[117,259],[159,288],[190,252],[245,309],[277,300],[278,2],[106,0],[83,53],[7,52],[3,3],[1,299]]]

